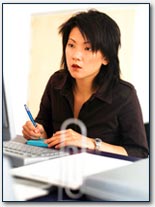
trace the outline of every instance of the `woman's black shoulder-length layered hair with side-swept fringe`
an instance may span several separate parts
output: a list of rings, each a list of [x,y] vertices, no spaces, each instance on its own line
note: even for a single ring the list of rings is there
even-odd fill
[[[61,67],[67,70],[65,48],[69,34],[74,27],[78,27],[81,34],[90,41],[94,52],[100,50],[108,60],[106,66],[101,66],[100,72],[94,81],[97,80],[98,82],[99,79],[103,79],[103,73],[108,73],[112,79],[120,79],[118,59],[118,49],[121,44],[120,29],[112,18],[97,10],[77,13],[59,27],[63,43]]]

